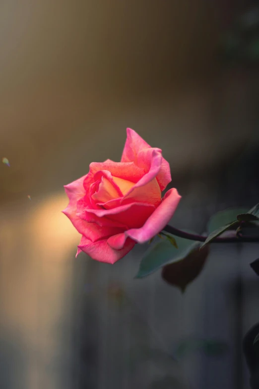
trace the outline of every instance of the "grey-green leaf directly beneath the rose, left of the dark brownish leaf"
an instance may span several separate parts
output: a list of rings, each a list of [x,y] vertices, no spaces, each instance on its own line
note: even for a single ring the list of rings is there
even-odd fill
[[[169,240],[163,240],[153,244],[148,249],[139,265],[135,278],[146,277],[168,263],[181,261],[199,243],[188,239],[178,238],[178,249]]]

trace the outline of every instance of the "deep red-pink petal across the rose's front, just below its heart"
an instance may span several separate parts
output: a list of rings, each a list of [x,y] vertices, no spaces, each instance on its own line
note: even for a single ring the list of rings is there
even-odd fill
[[[86,209],[99,218],[106,217],[113,221],[126,224],[128,229],[140,228],[149,216],[155,211],[155,207],[145,203],[130,203],[113,209]]]

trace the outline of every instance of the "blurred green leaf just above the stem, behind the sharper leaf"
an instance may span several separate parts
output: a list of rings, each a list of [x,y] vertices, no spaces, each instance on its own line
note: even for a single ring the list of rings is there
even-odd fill
[[[217,212],[210,218],[207,225],[207,232],[213,233],[222,226],[226,226],[237,220],[238,215],[247,214],[248,212],[247,208],[229,208],[225,211]]]

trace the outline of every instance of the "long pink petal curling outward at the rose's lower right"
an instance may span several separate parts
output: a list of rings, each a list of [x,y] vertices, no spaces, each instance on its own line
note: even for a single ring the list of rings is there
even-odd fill
[[[172,218],[181,196],[175,188],[169,189],[161,204],[147,219],[143,227],[128,230],[125,234],[138,243],[144,243],[159,233]]]

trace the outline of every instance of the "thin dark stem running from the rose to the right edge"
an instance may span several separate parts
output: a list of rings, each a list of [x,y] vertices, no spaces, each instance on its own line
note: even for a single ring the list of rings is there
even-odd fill
[[[172,235],[179,236],[189,240],[197,240],[199,242],[204,242],[207,239],[207,236],[198,235],[195,233],[186,233],[185,231],[178,230],[175,227],[166,225],[163,231],[171,233]],[[216,237],[210,243],[237,243],[237,242],[259,242],[259,236],[242,236],[241,233],[238,233],[237,236],[233,237]]]

